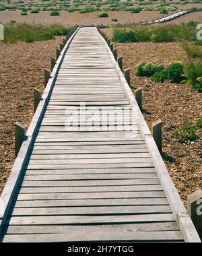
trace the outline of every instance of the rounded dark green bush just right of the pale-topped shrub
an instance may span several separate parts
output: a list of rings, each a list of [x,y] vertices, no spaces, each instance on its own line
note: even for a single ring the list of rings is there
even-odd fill
[[[184,79],[184,67],[180,62],[171,63],[167,69],[168,79],[179,84]]]

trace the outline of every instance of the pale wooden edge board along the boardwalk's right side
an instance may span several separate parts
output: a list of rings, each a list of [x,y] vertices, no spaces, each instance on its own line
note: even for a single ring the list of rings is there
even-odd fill
[[[166,197],[168,198],[170,207],[172,208],[174,218],[176,219],[176,222],[180,226],[180,229],[184,236],[184,241],[195,242],[195,243],[201,242],[201,239],[199,238],[199,234],[197,233],[197,230],[195,229],[195,226],[194,226],[189,214],[187,213],[187,210],[185,209],[185,207],[182,203],[182,200],[180,199],[180,195],[178,194],[176,187],[174,187],[174,184],[172,183],[170,174],[168,173],[166,165],[164,164],[164,161],[162,160],[162,156],[160,155],[160,152],[156,146],[154,138],[152,137],[151,132],[149,131],[149,127],[147,126],[147,123],[145,122],[145,119],[143,118],[143,115],[141,114],[141,110],[139,109],[137,101],[135,100],[135,96],[133,95],[131,88],[127,84],[125,76],[123,75],[123,73],[119,67],[119,64],[114,59],[114,55],[110,51],[108,44],[106,43],[106,41],[104,40],[104,38],[102,37],[101,34],[100,34],[100,37],[102,38],[102,40],[106,46],[106,49],[108,49],[108,53],[112,59],[112,62],[114,63],[114,65],[116,67],[116,71],[119,73],[120,80],[122,82],[123,88],[125,89],[125,92],[126,92],[128,98],[129,98],[130,104],[133,109],[135,108],[135,113],[137,114],[137,121],[139,124],[139,129],[141,131],[141,134],[143,135],[143,138],[145,139],[145,143],[149,150],[149,154],[151,156],[151,159],[154,162],[154,166],[158,173],[158,177],[160,179],[162,187],[164,188],[164,192],[166,193]]]

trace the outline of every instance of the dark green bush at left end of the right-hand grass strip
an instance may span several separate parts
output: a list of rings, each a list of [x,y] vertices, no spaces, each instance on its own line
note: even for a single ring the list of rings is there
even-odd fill
[[[130,28],[114,29],[112,40],[116,42],[138,42],[137,34]]]

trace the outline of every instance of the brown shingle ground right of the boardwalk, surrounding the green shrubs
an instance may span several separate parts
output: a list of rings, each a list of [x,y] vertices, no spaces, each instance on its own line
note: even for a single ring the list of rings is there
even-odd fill
[[[105,32],[111,35],[111,30]],[[131,86],[143,88],[143,115],[147,125],[151,127],[153,121],[162,120],[163,152],[174,160],[164,162],[186,205],[187,195],[202,188],[202,139],[182,144],[170,137],[170,133],[180,130],[186,119],[196,125],[197,119],[202,117],[202,94],[189,85],[160,84],[147,77],[136,77],[135,71],[140,61],[161,62],[168,66],[172,61],[184,61],[187,57],[178,42],[114,44],[118,55],[123,56],[124,69],[131,69]],[[202,129],[197,133],[202,138]]]

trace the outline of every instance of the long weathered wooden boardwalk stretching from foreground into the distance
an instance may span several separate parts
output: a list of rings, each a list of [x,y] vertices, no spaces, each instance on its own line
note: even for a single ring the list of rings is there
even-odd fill
[[[1,195],[1,241],[199,241],[96,28],[77,29],[51,76]]]

